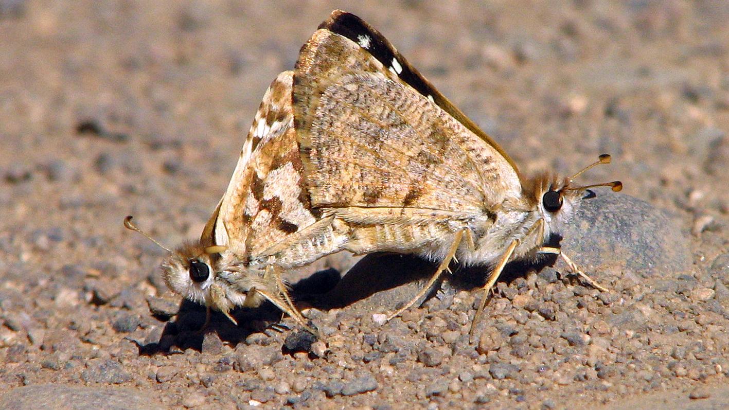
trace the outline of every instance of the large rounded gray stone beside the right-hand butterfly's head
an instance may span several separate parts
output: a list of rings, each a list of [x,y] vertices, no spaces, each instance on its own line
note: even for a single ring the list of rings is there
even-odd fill
[[[676,216],[632,196],[596,193],[563,232],[562,250],[577,266],[671,277],[690,268],[689,239]]]

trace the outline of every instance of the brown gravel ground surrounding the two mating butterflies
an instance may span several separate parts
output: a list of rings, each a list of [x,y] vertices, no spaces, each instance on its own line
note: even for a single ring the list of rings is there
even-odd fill
[[[625,195],[564,240],[609,292],[511,266],[469,339],[483,271],[382,324],[432,264],[335,255],[289,276],[326,343],[299,351],[272,306],[196,332],[204,309],[122,218],[198,236],[265,88],[335,8],[523,171],[613,155],[589,179]],[[720,1],[0,0],[0,408],[728,407],[727,20]]]

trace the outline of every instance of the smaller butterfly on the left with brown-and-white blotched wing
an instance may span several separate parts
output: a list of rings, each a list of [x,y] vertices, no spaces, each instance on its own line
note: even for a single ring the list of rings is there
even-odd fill
[[[308,330],[281,279],[287,269],[307,265],[340,249],[345,239],[332,228],[334,217],[311,209],[303,182],[292,112],[292,71],[276,77],[255,115],[233,177],[200,239],[162,263],[163,278],[175,293],[225,314],[235,306],[270,301]],[[327,241],[321,240],[326,238]],[[207,322],[207,321],[206,321]]]

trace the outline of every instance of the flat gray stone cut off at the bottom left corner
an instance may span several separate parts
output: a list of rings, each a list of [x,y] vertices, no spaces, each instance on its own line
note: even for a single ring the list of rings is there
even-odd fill
[[[157,393],[128,387],[79,387],[37,384],[17,387],[0,397],[0,409],[154,410],[163,409]],[[73,406],[69,406],[73,403]]]

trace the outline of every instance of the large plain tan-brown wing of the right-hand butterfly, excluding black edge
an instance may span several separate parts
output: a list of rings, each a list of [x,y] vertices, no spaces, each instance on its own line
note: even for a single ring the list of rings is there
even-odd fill
[[[394,50],[381,35],[357,38],[321,28],[297,61],[294,112],[313,206],[472,215],[521,193],[495,144],[435,104],[440,93],[399,77],[415,72],[401,56],[390,66],[375,58],[375,45]]]

